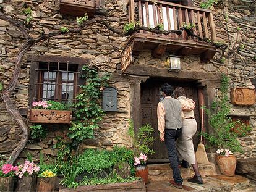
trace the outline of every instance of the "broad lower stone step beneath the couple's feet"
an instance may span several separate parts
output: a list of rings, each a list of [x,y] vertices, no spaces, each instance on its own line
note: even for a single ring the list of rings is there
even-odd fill
[[[147,192],[255,192],[255,186],[251,186],[247,178],[240,175],[228,177],[213,175],[203,177],[203,185],[189,183],[184,180],[183,189],[177,189],[169,185],[169,180],[151,180],[147,184]]]

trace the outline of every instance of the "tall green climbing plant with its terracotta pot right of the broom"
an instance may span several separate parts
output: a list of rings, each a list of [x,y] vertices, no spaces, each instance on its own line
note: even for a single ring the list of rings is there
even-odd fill
[[[216,101],[210,109],[205,109],[212,133],[203,133],[203,136],[209,141],[210,145],[216,150],[216,163],[220,167],[221,173],[228,176],[234,176],[236,170],[236,157],[234,153],[242,152],[242,146],[237,140],[238,135],[233,131],[237,122],[232,121],[228,116],[230,105],[228,103],[228,77],[223,75],[221,79],[221,101]],[[246,125],[241,128],[239,134],[245,135],[249,131]]]

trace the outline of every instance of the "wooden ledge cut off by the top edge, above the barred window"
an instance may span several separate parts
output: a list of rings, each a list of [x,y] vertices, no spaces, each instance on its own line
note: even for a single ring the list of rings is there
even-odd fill
[[[101,0],[60,0],[59,11],[61,14],[89,17],[95,14],[96,7],[101,6]]]

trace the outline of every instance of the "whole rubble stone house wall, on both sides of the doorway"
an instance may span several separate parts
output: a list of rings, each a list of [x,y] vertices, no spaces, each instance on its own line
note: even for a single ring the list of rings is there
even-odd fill
[[[225,0],[226,1],[226,0]],[[244,48],[236,51],[221,62],[221,51],[218,50],[215,57],[207,63],[202,63],[198,56],[186,56],[181,59],[182,70],[207,73],[227,73],[231,78],[229,88],[236,86],[247,86],[253,88],[250,79],[255,78],[255,55],[256,55],[256,19],[255,5],[247,1],[226,1],[228,8],[228,31],[226,32],[226,22],[223,14],[223,6],[217,4],[213,8],[216,35],[218,41],[231,43],[230,51],[234,44],[244,44]],[[58,7],[54,0],[49,1],[4,1],[2,7],[8,15],[24,19],[22,14],[23,5],[27,4],[33,10],[33,28],[29,31],[30,35],[36,37],[43,30],[45,32],[53,29],[59,29],[62,26],[74,27],[75,17],[67,17],[59,14]],[[198,6],[200,0],[194,1]],[[126,1],[106,0],[105,6],[108,7],[111,17],[108,21],[114,27],[122,28],[127,23]],[[100,17],[100,16],[97,16]],[[237,27],[239,30],[236,41]],[[0,78],[4,85],[9,82],[14,70],[15,56],[24,42],[20,32],[9,25],[9,23],[0,20]],[[30,75],[30,62],[27,62],[27,56],[32,55],[52,55],[52,56],[72,56],[90,59],[90,64],[97,65],[101,72],[114,73],[117,65],[121,62],[121,51],[124,48],[126,38],[113,34],[102,25],[93,24],[84,28],[81,34],[59,35],[43,43],[33,46],[28,54],[25,55],[22,70],[20,72],[19,83],[12,94],[12,100],[19,108],[28,107],[28,85]],[[166,67],[165,58],[156,59],[151,56],[151,51],[145,50],[135,56],[135,64],[151,65],[155,67]],[[95,140],[86,140],[81,148],[107,148],[110,149],[114,144],[131,146],[129,136],[127,135],[128,120],[130,119],[130,94],[131,81],[120,78],[111,82],[118,90],[118,112],[107,112],[105,119],[101,123],[100,130],[96,131]],[[233,114],[250,115],[250,125],[253,130],[250,135],[240,138],[244,146],[244,154],[239,157],[256,157],[256,109],[254,106],[232,106]],[[24,117],[25,118],[25,117]],[[15,146],[20,139],[20,129],[12,120],[11,116],[5,111],[4,103],[0,102],[0,149],[2,154],[12,151],[9,146]],[[35,151],[38,154],[43,149],[45,154],[56,156],[56,149],[53,144],[56,143],[56,136],[66,136],[66,128],[53,128],[49,133],[47,140],[28,145],[27,149]],[[21,154],[23,157],[23,154]]]

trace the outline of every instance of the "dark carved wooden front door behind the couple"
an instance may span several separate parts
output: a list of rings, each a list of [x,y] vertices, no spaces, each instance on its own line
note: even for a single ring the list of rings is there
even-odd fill
[[[176,88],[177,84],[171,82],[171,85]],[[166,146],[163,142],[159,140],[158,133],[158,119],[157,119],[157,105],[160,102],[160,86],[163,85],[161,81],[148,81],[147,83],[142,84],[141,88],[141,125],[146,123],[150,124],[151,127],[155,130],[154,133],[154,143],[153,150],[155,154],[149,156],[149,161],[152,163],[161,163],[161,162],[169,162],[168,152],[166,150]],[[178,85],[182,86],[182,85]],[[200,130],[200,114],[199,114],[199,105],[198,105],[198,94],[197,88],[192,86],[182,86],[186,91],[187,98],[191,98],[195,101],[195,119],[197,120],[198,131]],[[199,136],[195,135],[193,138],[194,148],[197,149],[197,145],[199,143]]]

